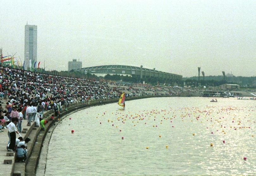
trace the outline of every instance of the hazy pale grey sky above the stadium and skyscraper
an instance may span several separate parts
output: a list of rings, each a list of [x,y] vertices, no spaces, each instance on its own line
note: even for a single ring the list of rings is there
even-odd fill
[[[123,64],[183,77],[256,75],[256,1],[1,1],[0,47],[24,60],[37,25],[46,70]]]

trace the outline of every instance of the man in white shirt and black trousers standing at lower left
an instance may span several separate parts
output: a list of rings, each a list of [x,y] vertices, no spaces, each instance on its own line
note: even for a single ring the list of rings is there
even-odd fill
[[[8,151],[15,151],[16,133],[21,136],[21,134],[16,130],[17,123],[18,118],[12,118],[12,122],[7,125],[10,134],[10,144]]]

